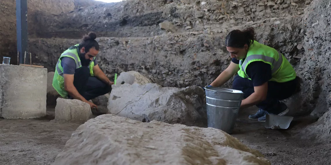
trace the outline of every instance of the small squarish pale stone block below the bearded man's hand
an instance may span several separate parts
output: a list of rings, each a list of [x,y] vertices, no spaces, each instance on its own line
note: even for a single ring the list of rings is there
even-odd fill
[[[92,115],[89,104],[77,99],[56,99],[55,120],[85,122]]]

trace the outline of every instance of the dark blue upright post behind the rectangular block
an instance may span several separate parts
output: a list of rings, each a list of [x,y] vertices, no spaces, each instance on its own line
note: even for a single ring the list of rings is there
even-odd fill
[[[16,0],[16,32],[17,51],[20,53],[20,62],[24,63],[24,52],[26,51],[26,63],[29,61],[27,52],[27,2],[26,0]]]

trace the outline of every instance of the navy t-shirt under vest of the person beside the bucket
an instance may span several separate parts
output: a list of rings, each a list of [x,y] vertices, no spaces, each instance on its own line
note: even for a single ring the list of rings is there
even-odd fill
[[[239,60],[232,58],[233,63],[239,64]],[[262,61],[251,62],[246,67],[246,74],[252,79],[254,86],[260,86],[271,79],[271,67]]]

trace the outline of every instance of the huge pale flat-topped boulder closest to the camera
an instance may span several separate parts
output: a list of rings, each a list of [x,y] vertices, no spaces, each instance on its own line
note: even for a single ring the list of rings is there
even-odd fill
[[[237,138],[215,128],[150,123],[112,114],[80,125],[53,165],[270,165]]]

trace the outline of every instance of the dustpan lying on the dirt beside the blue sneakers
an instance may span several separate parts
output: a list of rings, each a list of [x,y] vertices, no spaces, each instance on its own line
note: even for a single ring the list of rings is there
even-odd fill
[[[269,129],[287,129],[291,121],[293,120],[293,116],[278,116],[273,114],[267,114],[265,116],[265,128]]]

